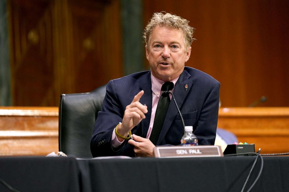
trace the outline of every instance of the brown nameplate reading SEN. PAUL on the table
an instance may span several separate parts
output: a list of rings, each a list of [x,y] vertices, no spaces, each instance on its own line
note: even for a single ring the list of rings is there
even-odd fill
[[[154,148],[154,156],[158,158],[179,157],[222,157],[220,146],[163,146]]]

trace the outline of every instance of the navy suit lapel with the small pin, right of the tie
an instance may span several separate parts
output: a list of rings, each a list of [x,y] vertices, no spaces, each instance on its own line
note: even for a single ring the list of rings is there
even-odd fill
[[[177,102],[178,107],[181,109],[185,98],[188,96],[188,93],[190,92],[190,89],[192,87],[193,82],[188,79],[191,75],[184,70],[183,73],[181,73],[178,81],[176,82],[175,85],[175,89],[174,89],[174,96],[175,96],[175,100]],[[185,86],[188,85],[187,90],[185,88]],[[178,110],[177,107],[175,105],[175,102],[173,101],[173,98],[170,102],[169,108],[168,108],[168,112],[167,115],[165,117],[165,121],[163,123],[163,128],[161,130],[160,136],[158,138],[158,144],[161,144],[161,142],[163,141],[165,135],[167,134],[169,128],[172,125],[172,122],[175,120],[176,115],[178,114]]]

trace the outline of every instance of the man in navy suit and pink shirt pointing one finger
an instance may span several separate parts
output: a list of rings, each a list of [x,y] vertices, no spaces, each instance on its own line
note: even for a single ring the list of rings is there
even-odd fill
[[[91,139],[94,157],[152,157],[155,145],[180,144],[184,127],[174,102],[168,105],[160,132],[157,136],[153,133],[157,130],[154,124],[161,119],[155,116],[162,110],[157,106],[165,97],[161,88],[164,82],[173,83],[170,92],[185,125],[193,126],[199,145],[214,145],[220,83],[202,71],[184,66],[191,55],[193,32],[188,21],[179,16],[163,12],[153,15],[144,32],[151,70],[108,82]],[[156,137],[155,144],[151,135]]]

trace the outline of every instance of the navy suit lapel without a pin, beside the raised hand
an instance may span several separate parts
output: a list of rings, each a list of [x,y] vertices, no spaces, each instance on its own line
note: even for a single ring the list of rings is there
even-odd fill
[[[147,137],[147,131],[149,130],[149,122],[151,120],[151,105],[152,105],[152,91],[151,91],[151,73],[148,72],[139,80],[140,90],[144,90],[144,95],[140,98],[140,103],[147,105],[146,118],[141,121],[142,125],[142,136]]]

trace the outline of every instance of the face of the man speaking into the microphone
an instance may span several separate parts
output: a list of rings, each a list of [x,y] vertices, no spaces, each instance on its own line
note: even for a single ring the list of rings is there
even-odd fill
[[[163,81],[177,78],[191,55],[191,46],[185,52],[184,33],[181,29],[160,27],[151,32],[146,57],[151,73]]]

